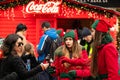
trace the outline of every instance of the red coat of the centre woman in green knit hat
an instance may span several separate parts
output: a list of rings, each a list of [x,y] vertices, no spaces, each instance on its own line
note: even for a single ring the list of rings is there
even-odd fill
[[[57,48],[58,51],[60,49],[62,49],[62,46]],[[57,52],[57,50],[55,52]],[[76,58],[75,60],[73,60],[73,62],[67,68],[63,64],[61,64],[61,57],[62,56],[59,56],[59,53],[55,53],[55,60],[54,60],[54,63],[52,64],[56,68],[56,73],[53,74],[53,75],[58,76],[58,80],[70,80],[70,78],[60,78],[61,73],[63,73],[63,72],[68,73],[68,71],[70,71],[70,70],[75,70],[76,71],[76,78],[74,80],[82,80],[83,77],[90,76],[89,66],[77,65],[77,64],[79,64],[79,61],[81,59],[87,59],[88,58],[87,52],[85,50],[82,51],[82,57],[81,58]]]

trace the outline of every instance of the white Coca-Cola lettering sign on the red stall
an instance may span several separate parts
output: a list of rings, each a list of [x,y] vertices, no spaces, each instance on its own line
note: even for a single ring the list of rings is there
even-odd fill
[[[35,1],[31,1],[26,6],[27,13],[59,13],[60,2],[49,1],[45,4],[36,4]]]

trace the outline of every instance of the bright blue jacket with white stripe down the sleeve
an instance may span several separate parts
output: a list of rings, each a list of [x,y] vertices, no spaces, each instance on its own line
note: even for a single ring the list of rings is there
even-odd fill
[[[44,35],[42,35],[37,52],[39,54],[38,61],[42,62],[50,50],[50,43],[52,40],[55,40],[58,38],[58,34],[56,33],[56,30],[51,28],[50,30],[45,31]]]

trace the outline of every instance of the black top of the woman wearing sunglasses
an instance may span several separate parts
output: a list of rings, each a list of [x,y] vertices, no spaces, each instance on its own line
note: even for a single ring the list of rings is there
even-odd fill
[[[3,78],[4,76],[12,72],[16,72],[19,77],[18,80],[26,80],[28,78],[35,76],[37,73],[41,71],[42,68],[40,65],[28,71],[23,60],[19,56],[9,55],[1,62],[0,78]]]

